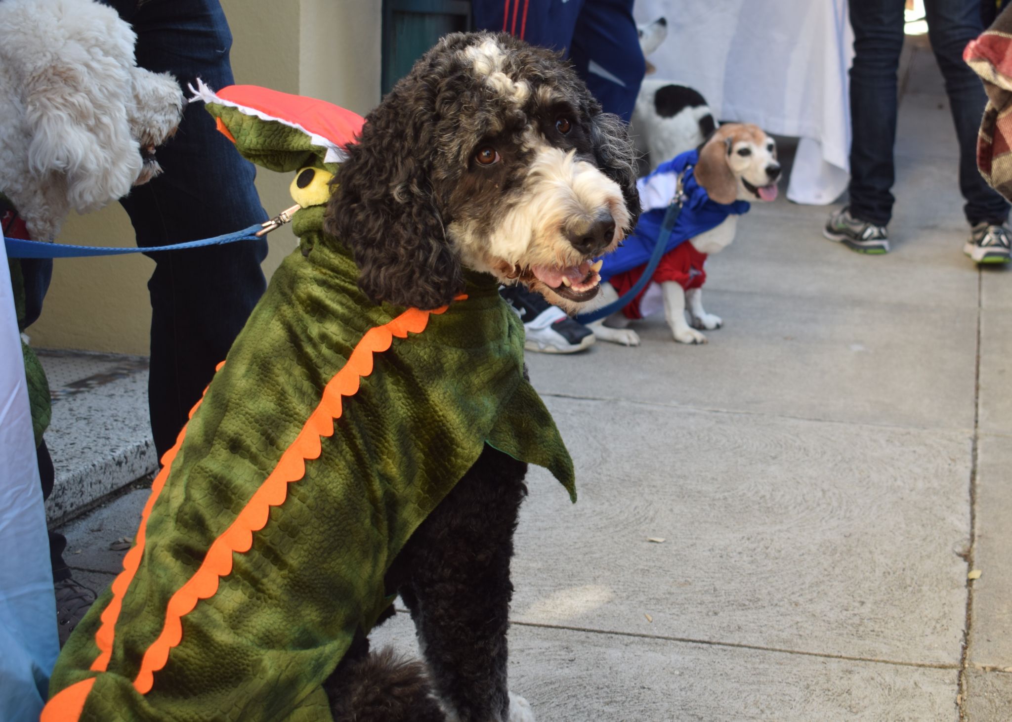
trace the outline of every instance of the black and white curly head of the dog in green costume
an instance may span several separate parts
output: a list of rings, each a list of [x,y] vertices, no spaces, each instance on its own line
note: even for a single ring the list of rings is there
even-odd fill
[[[412,145],[422,117],[438,124],[427,135],[439,146]],[[592,259],[639,216],[636,152],[559,57],[505,34],[450,35],[366,119],[331,215],[336,234],[362,239],[355,260],[371,297],[448,303],[461,264],[571,313],[597,295]],[[397,184],[398,209],[382,206],[421,158],[425,177]]]

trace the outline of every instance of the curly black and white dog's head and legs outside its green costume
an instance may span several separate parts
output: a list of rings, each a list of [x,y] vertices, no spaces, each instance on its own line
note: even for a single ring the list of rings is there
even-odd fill
[[[349,240],[359,285],[377,302],[441,306],[467,267],[576,311],[598,291],[592,259],[640,212],[624,126],[558,56],[507,34],[444,37],[348,152],[327,230]],[[356,639],[328,681],[336,719],[533,719],[506,685],[525,473],[486,447],[411,538],[387,581],[411,610],[425,666],[370,656]]]

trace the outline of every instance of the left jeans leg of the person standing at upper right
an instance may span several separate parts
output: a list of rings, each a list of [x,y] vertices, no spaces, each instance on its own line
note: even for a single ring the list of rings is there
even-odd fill
[[[850,213],[886,226],[893,216],[897,70],[903,50],[903,0],[850,0]]]

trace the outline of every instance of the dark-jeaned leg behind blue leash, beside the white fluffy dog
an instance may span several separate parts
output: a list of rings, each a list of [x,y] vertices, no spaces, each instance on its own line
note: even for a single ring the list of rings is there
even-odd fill
[[[168,71],[184,88],[196,78],[216,90],[234,82],[232,34],[218,0],[133,4],[135,11],[117,9],[137,31],[138,65]],[[215,129],[202,103],[186,107],[178,133],[157,157],[162,175],[121,200],[139,246],[207,238],[267,219],[253,165]],[[261,240],[152,255],[149,403],[159,458],[263,294],[266,254]]]

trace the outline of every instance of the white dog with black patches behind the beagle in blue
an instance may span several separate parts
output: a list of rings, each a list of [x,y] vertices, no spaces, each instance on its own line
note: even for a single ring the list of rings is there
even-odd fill
[[[661,17],[640,26],[644,56],[658,49],[668,35],[668,21]],[[648,62],[647,74],[654,67]],[[632,110],[637,150],[647,154],[650,169],[691,148],[698,148],[716,130],[716,122],[699,91],[673,82],[647,78],[640,86]]]

